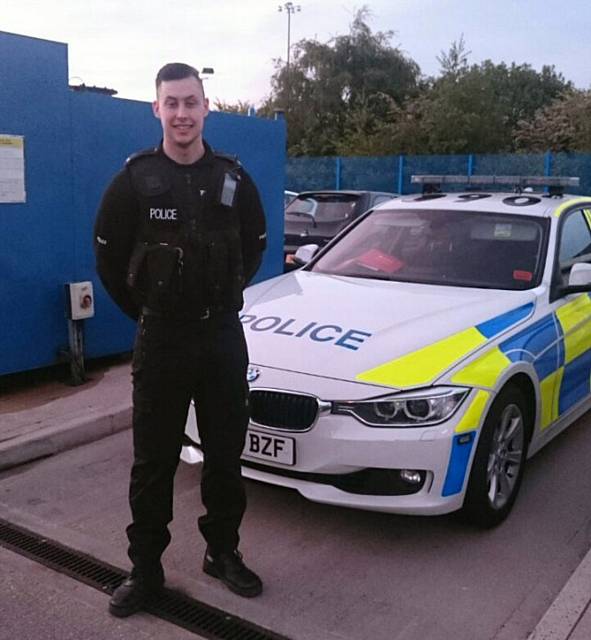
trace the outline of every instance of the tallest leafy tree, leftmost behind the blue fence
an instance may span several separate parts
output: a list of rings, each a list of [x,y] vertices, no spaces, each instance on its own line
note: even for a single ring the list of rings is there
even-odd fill
[[[393,32],[372,33],[366,7],[357,12],[349,34],[328,43],[302,40],[289,67],[281,61],[264,105],[269,115],[282,109],[291,155],[332,155],[355,121],[367,135],[418,90],[420,69],[390,41]]]

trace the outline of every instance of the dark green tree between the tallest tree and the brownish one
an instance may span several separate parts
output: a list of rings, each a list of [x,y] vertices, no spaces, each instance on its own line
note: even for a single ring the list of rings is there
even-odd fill
[[[439,58],[442,75],[391,121],[391,142],[406,153],[502,153],[516,149],[521,121],[572,85],[554,67],[485,60],[467,64],[463,39]]]

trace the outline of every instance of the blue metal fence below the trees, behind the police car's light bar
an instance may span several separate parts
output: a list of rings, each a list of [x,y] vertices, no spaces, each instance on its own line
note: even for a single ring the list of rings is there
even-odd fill
[[[591,154],[471,154],[382,157],[289,158],[286,189],[361,189],[414,193],[414,174],[555,175],[578,176],[581,184],[569,189],[591,193]],[[458,187],[460,189],[460,187]]]

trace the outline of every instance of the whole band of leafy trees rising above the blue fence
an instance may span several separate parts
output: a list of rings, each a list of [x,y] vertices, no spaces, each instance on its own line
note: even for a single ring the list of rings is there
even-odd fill
[[[285,113],[289,155],[590,148],[589,99],[553,66],[470,65],[462,35],[437,57],[440,74],[424,78],[390,44],[393,32],[372,32],[368,17],[364,7],[347,35],[302,40],[289,67],[277,61],[259,113]]]

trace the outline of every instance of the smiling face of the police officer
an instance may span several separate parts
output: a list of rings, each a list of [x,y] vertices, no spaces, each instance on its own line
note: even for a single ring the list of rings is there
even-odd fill
[[[209,100],[196,78],[162,82],[152,107],[162,124],[165,143],[183,149],[201,144]]]

